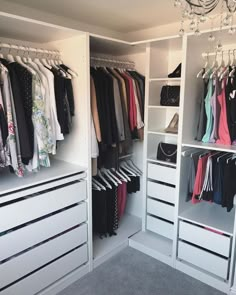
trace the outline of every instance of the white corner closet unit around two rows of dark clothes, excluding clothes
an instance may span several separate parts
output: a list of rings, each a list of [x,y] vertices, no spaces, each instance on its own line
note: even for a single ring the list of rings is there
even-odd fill
[[[146,55],[145,45],[130,46],[128,42],[118,40],[90,37],[90,56],[112,59],[117,61],[131,61],[135,63],[135,69],[145,75]],[[131,158],[137,167],[143,171],[143,142],[134,141],[127,158]],[[124,157],[126,158],[126,157]],[[113,256],[128,245],[129,237],[139,232],[142,228],[142,177],[140,179],[141,190],[127,196],[125,215],[122,217],[117,236],[100,239],[93,237],[94,267]]]

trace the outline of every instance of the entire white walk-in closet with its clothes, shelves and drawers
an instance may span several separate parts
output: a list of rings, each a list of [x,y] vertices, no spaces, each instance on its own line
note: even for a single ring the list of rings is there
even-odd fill
[[[153,37],[151,24],[115,34],[16,14],[0,12],[0,295],[56,295],[94,274],[106,284],[102,267],[127,247],[236,294],[227,25],[200,34],[200,15],[197,33],[182,19]]]

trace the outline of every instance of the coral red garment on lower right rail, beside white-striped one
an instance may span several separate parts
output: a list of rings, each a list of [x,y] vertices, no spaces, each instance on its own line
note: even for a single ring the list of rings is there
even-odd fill
[[[207,154],[198,160],[197,173],[196,173],[196,178],[195,178],[195,183],[193,188],[193,195],[192,195],[193,204],[197,204],[200,202],[200,200],[197,200],[195,196],[200,196],[202,192],[202,186],[204,183],[205,173],[206,173],[207,159],[209,158],[209,156],[210,154]]]

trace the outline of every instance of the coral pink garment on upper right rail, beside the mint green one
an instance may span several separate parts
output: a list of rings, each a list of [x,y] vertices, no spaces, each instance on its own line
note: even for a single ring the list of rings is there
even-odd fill
[[[216,143],[231,145],[231,138],[229,134],[228,122],[227,122],[227,112],[226,112],[226,97],[225,97],[225,86],[226,79],[222,83],[222,91],[218,95],[217,99],[220,104],[220,119],[218,127],[218,136]]]

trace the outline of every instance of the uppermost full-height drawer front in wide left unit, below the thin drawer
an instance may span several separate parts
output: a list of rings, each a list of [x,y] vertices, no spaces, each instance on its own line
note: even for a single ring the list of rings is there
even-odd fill
[[[0,208],[0,232],[76,204],[86,198],[81,181]],[[14,218],[12,218],[14,216]]]

